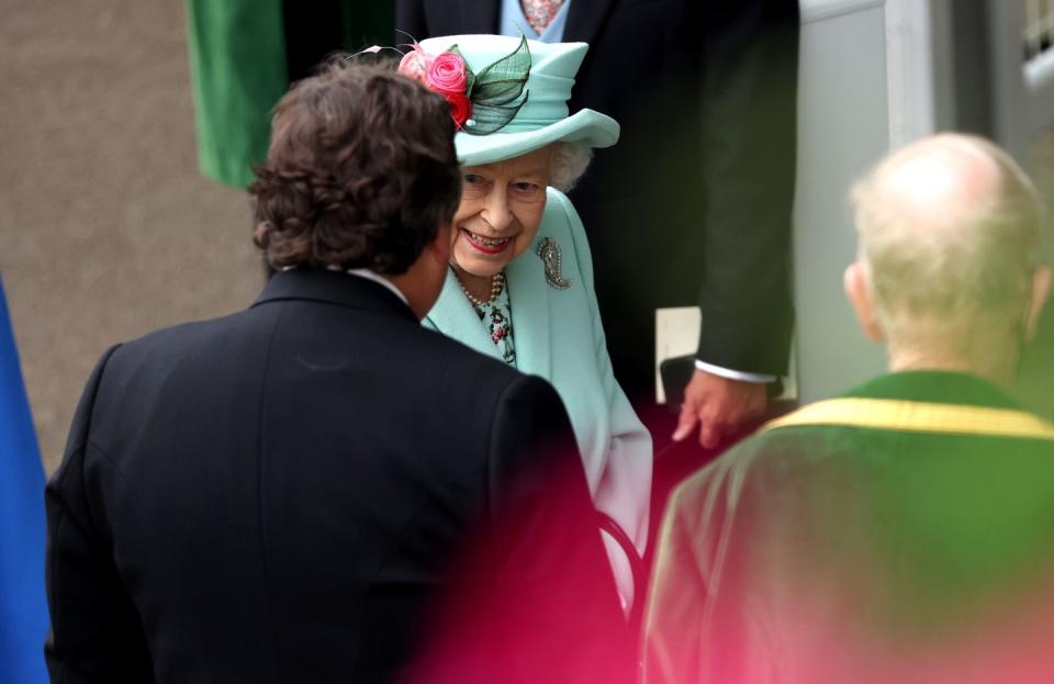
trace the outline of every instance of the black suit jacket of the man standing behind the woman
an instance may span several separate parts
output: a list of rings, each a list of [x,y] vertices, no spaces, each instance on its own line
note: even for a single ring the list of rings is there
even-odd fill
[[[498,29],[496,0],[396,8],[417,40]],[[564,40],[590,44],[571,111],[623,125],[571,195],[616,377],[647,392],[654,309],[692,304],[700,359],[786,372],[797,0],[572,0]]]

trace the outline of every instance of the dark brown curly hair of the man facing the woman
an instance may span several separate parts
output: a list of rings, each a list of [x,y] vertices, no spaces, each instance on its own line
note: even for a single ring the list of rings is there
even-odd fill
[[[404,273],[458,206],[453,134],[447,101],[391,65],[332,60],[274,109],[254,242],[276,269]]]

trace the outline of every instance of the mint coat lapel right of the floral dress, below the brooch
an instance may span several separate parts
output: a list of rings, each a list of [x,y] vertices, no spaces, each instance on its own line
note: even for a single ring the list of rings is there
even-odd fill
[[[528,253],[520,255],[506,267],[505,277],[508,279],[509,304],[513,310],[516,368],[523,373],[551,378],[549,298],[556,290],[546,284],[545,265],[535,253],[541,233],[542,231],[539,231],[539,237]]]

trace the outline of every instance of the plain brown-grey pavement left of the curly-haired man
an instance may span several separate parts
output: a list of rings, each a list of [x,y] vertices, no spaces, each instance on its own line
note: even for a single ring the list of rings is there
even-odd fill
[[[197,168],[183,3],[5,0],[3,16],[0,273],[51,472],[110,345],[243,309],[262,277],[245,194]],[[1052,197],[1054,136],[1036,150]]]

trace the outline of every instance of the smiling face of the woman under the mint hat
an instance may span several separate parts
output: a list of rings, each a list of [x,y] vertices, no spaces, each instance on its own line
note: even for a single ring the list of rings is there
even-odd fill
[[[452,258],[461,270],[491,277],[530,247],[546,211],[552,148],[461,167]]]

